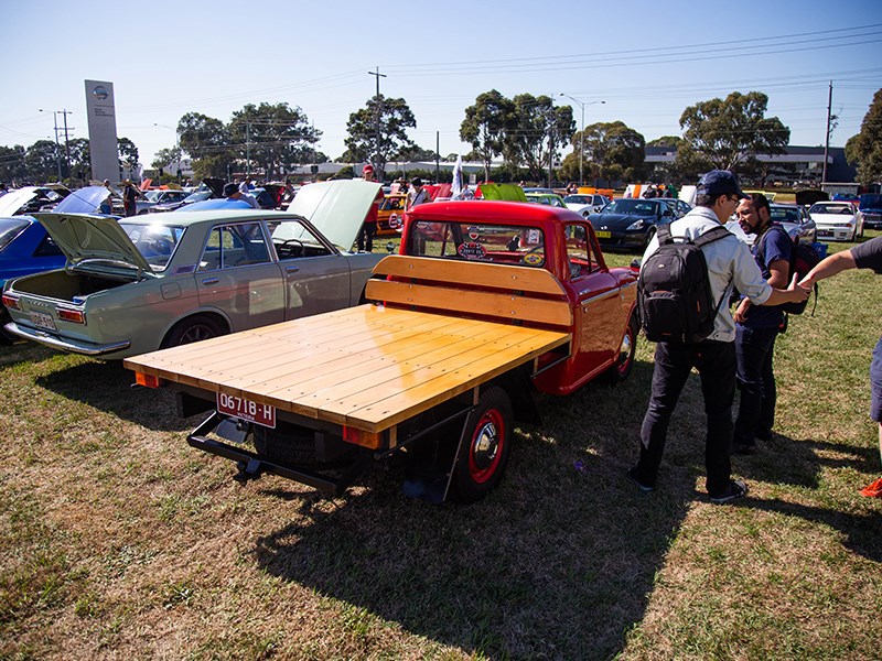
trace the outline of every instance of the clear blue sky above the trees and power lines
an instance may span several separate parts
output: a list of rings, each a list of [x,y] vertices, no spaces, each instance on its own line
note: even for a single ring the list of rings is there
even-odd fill
[[[503,7],[503,3],[498,3]],[[0,144],[53,138],[53,110],[88,137],[85,79],[114,83],[117,132],[141,161],[173,147],[189,111],[228,121],[248,102],[300,106],[343,150],[346,121],[375,93],[404,98],[410,137],[465,152],[464,108],[495,88],[561,93],[585,123],[624,121],[652,140],[680,134],[682,110],[731,91],[768,95],[790,143],[824,143],[829,80],[839,116],[831,144],[860,130],[882,88],[882,2],[617,3],[560,0],[505,9],[455,3],[30,1],[7,7],[0,42],[7,93]],[[596,101],[605,101],[600,104]],[[49,112],[40,112],[43,108]],[[58,117],[61,120],[61,116]],[[154,126],[160,124],[160,126]],[[164,126],[162,126],[164,124]]]

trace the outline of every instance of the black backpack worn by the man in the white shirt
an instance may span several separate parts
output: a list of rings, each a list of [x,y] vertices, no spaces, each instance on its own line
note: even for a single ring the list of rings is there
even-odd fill
[[[691,240],[673,237],[664,224],[657,236],[658,250],[646,259],[637,280],[641,325],[650,342],[699,343],[713,333],[725,300],[723,292],[719,303],[713,301],[701,247],[732,234],[718,226]]]

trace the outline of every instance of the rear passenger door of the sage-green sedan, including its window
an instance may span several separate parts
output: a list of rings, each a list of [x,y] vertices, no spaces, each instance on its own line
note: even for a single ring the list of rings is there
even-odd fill
[[[284,319],[281,283],[259,220],[212,228],[196,271],[201,306],[223,311],[234,332],[276,324]]]

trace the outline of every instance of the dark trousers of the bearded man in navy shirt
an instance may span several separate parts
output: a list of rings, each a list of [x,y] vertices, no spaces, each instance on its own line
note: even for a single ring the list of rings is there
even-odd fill
[[[754,436],[768,437],[772,433],[777,401],[773,366],[777,336],[777,327],[735,327],[736,379],[741,391],[741,404],[735,419],[735,445],[755,445]]]

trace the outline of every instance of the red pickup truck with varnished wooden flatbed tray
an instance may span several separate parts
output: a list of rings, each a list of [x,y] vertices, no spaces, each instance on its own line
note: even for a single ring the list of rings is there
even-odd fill
[[[578,214],[450,202],[409,214],[400,254],[375,269],[370,303],[126,360],[143,386],[212,414],[187,441],[341,492],[381,459],[405,490],[472,502],[499,481],[531,391],[627,377],[636,274],[609,269]]]

